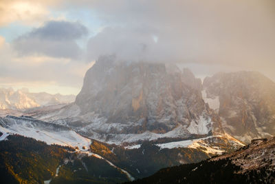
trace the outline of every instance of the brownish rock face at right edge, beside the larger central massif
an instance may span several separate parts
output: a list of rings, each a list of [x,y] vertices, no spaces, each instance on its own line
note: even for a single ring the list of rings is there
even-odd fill
[[[223,129],[237,139],[249,143],[275,134],[275,83],[259,72],[207,77],[203,93],[210,102],[218,99]]]

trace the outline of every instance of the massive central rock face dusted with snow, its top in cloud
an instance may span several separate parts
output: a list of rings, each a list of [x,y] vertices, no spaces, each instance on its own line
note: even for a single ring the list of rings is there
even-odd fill
[[[98,133],[208,134],[213,114],[200,89],[201,81],[190,70],[181,72],[175,65],[116,63],[102,57],[87,71],[75,103],[80,116],[92,113],[104,119],[100,128],[89,122]]]

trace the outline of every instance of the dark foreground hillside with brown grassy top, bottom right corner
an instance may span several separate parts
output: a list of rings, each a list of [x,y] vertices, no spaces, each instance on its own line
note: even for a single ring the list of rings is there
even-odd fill
[[[275,138],[256,139],[231,154],[179,165],[132,183],[274,183]]]

